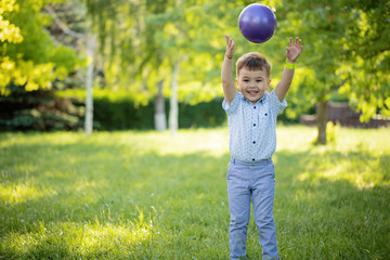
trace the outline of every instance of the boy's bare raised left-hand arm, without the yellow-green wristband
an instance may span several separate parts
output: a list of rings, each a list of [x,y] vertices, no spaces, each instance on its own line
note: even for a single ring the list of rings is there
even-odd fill
[[[227,104],[231,104],[236,95],[236,89],[233,79],[233,54],[234,54],[234,41],[225,35],[226,39],[226,52],[223,58],[221,79],[223,94],[227,101]]]

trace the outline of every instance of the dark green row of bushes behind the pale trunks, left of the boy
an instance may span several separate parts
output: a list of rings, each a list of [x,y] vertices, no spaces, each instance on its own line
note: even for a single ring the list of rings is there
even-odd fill
[[[0,96],[0,130],[78,130],[84,122],[84,91],[67,98],[63,92],[31,91],[10,86],[11,95]],[[122,92],[96,91],[93,127],[96,130],[154,129],[154,101],[139,104]],[[75,95],[76,93],[76,95]],[[168,120],[169,100],[166,99]],[[179,128],[218,127],[225,119],[222,98],[208,103],[179,104]]]

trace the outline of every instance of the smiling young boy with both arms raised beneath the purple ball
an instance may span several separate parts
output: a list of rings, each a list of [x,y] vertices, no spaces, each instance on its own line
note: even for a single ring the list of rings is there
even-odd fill
[[[276,148],[276,116],[286,106],[285,96],[291,84],[295,63],[302,52],[301,40],[290,38],[286,48],[286,66],[276,88],[270,87],[271,66],[257,52],[243,55],[236,63],[239,92],[233,80],[234,41],[226,38],[222,64],[222,107],[227,114],[231,161],[227,168],[227,195],[231,222],[230,257],[246,255],[246,236],[250,217],[250,200],[263,248],[262,259],[278,259],[276,230],[273,219],[275,168],[272,154]]]

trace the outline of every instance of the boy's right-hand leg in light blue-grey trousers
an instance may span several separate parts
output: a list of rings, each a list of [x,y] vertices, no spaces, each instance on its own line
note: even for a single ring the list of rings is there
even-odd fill
[[[259,231],[263,259],[278,259],[276,229],[273,218],[275,196],[275,171],[271,161],[257,169],[258,178],[253,183],[252,200],[255,222]]]

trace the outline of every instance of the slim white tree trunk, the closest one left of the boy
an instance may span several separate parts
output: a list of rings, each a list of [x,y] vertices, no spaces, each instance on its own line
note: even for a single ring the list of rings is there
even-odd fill
[[[172,67],[172,83],[170,95],[169,109],[169,129],[172,135],[176,135],[179,128],[179,104],[178,104],[178,76],[179,76],[179,60],[174,62]]]

